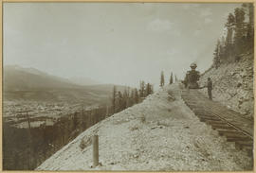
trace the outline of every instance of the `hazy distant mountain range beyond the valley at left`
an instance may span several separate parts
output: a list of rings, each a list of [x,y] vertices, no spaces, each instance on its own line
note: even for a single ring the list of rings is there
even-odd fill
[[[113,84],[88,78],[60,78],[35,68],[4,66],[4,100],[44,100],[98,103],[109,101]],[[119,91],[126,87],[117,85]]]

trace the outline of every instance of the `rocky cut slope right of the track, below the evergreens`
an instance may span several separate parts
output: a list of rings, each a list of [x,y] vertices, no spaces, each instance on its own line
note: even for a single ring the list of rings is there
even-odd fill
[[[213,100],[247,118],[253,117],[253,54],[241,55],[240,61],[222,64],[218,69],[210,68],[201,76],[200,86],[206,84],[207,78],[212,79]],[[206,88],[201,92],[208,95]]]

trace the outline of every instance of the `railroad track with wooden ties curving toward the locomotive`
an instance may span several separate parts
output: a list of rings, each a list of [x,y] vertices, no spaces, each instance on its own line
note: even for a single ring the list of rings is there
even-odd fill
[[[253,155],[253,121],[211,101],[197,90],[183,89],[181,97],[201,122],[217,130],[228,142],[235,143],[237,149],[244,149],[249,156]]]

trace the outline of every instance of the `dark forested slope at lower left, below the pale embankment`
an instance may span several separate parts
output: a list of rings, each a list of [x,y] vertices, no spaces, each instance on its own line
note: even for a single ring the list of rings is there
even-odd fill
[[[82,131],[107,117],[107,108],[64,115],[52,126],[19,129],[3,122],[3,169],[33,170]],[[30,134],[30,135],[28,135]]]

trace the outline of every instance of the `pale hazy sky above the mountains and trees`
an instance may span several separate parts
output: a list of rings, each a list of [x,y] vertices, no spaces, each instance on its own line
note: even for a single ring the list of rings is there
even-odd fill
[[[164,71],[203,73],[241,4],[4,3],[4,65],[101,83],[159,85]]]

